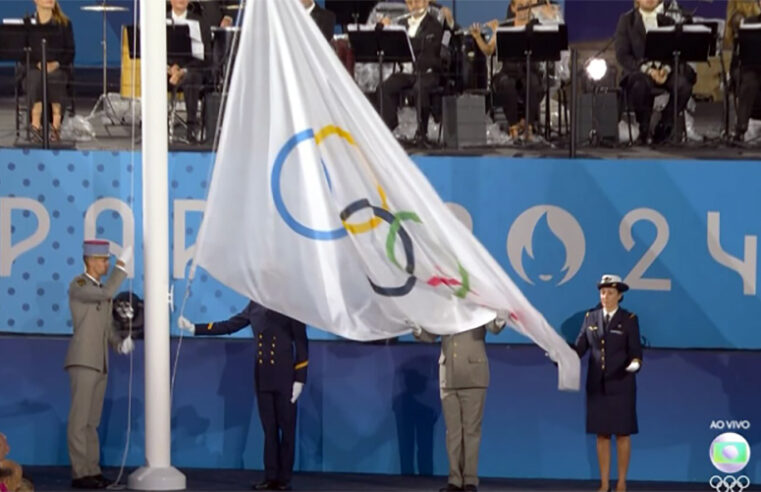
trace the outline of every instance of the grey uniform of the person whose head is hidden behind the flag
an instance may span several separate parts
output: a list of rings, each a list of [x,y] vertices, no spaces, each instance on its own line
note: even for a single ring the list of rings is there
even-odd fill
[[[494,321],[456,335],[441,337],[439,390],[444,413],[449,458],[448,482],[457,487],[478,486],[478,450],[481,421],[489,386],[486,331],[499,333]],[[417,337],[433,342],[438,335],[423,332]]]

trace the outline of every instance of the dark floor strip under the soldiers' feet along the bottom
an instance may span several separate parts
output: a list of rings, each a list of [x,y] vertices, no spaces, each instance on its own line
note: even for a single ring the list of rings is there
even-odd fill
[[[121,480],[127,481],[127,476],[133,469],[127,469]],[[115,479],[118,469],[105,469],[104,474],[109,479]],[[211,470],[183,469],[187,477],[187,490],[233,491],[251,490],[251,485],[263,478],[262,472],[255,470]],[[24,475],[34,482],[35,490],[63,491],[70,489],[69,468],[66,467],[26,467]],[[293,478],[293,489],[301,492],[412,492],[435,491],[446,485],[446,477],[421,477],[399,475],[362,475],[342,473],[296,473]],[[711,490],[707,483],[669,483],[669,482],[629,482],[629,490]],[[597,490],[598,482],[593,481],[562,481],[562,480],[524,480],[524,479],[495,479],[481,480],[479,490],[482,491],[591,491]],[[745,490],[761,490],[761,487],[751,486]]]

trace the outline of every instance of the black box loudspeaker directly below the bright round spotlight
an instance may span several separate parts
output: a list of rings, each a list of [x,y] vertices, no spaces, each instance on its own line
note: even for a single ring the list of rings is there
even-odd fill
[[[618,140],[618,95],[615,92],[581,94],[576,112],[578,142],[590,142],[593,130],[598,140]],[[632,124],[636,125],[632,117]]]

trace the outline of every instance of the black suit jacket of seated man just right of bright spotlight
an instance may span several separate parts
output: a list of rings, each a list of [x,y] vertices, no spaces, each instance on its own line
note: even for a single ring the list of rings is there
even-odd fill
[[[658,26],[671,26],[675,23],[671,17],[658,14]],[[632,72],[641,71],[642,64],[649,61],[645,58],[646,34],[645,23],[637,9],[626,12],[618,20],[615,37],[616,60],[623,68],[624,77]],[[691,82],[695,81],[695,71],[689,65],[681,63],[679,71]]]

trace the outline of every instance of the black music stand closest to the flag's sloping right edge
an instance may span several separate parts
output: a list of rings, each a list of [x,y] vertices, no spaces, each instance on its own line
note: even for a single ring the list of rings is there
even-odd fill
[[[415,63],[415,53],[404,26],[376,26],[349,24],[349,43],[354,50],[354,60],[360,63],[378,63],[378,99],[380,114],[383,115],[383,64]],[[419,86],[420,84],[418,84]],[[419,115],[418,115],[419,117]]]

